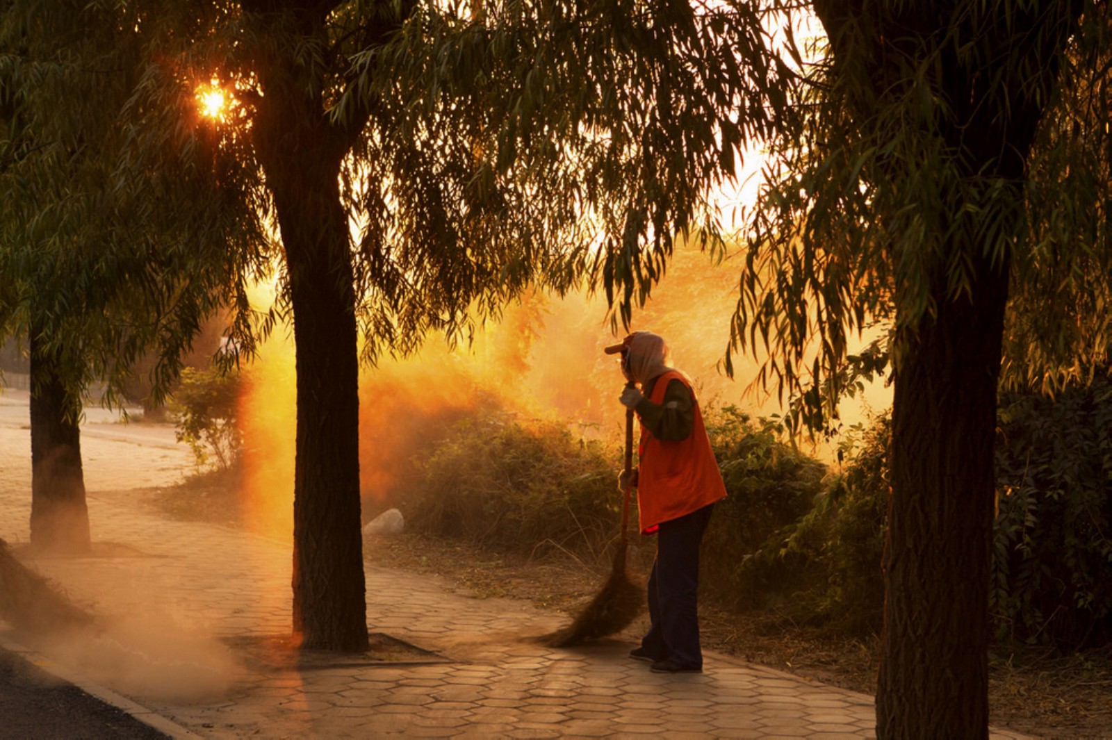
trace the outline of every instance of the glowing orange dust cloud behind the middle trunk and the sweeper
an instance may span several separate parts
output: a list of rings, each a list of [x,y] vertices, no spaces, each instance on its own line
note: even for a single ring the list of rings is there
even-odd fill
[[[673,366],[693,379],[704,407],[735,404],[754,416],[778,413],[775,398],[748,388],[755,361],[735,357],[733,379],[719,369],[736,300],[737,273],[728,260],[714,264],[706,253],[679,246],[649,302],[635,310],[631,330],[654,331],[668,341]],[[279,538],[292,531],[296,394],[290,334],[278,329],[261,346],[247,371],[239,413],[248,519]],[[384,493],[399,482],[415,450],[427,448],[477,410],[525,420],[559,419],[585,437],[618,439],[624,414],[617,397],[625,381],[616,359],[602,351],[614,341],[603,297],[532,292],[508,306],[502,320],[488,323],[470,346],[449,348],[429,337],[415,356],[385,359],[363,370],[359,463],[365,514],[373,514],[367,509],[376,503],[386,506]],[[880,399],[883,406],[883,391]]]

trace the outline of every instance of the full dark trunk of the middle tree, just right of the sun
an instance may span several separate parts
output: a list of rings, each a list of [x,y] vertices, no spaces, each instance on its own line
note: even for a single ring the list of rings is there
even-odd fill
[[[309,31],[307,31],[309,33]],[[292,56],[296,50],[289,49]],[[340,164],[350,140],[291,58],[262,60],[255,143],[278,213],[294,311],[294,631],[302,649],[365,651],[355,284]]]

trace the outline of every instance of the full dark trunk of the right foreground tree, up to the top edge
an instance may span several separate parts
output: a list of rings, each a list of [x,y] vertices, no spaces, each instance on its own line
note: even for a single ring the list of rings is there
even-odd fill
[[[814,8],[862,121],[874,120],[877,108],[902,104],[902,96],[921,96],[916,88],[925,82],[946,104],[915,123],[921,130],[900,136],[943,141],[950,164],[970,186],[994,180],[1014,188],[1010,203],[990,189],[984,202],[952,204],[955,218],[974,206],[983,228],[967,226],[942,244],[925,274],[896,284],[896,304],[916,306],[902,293],[914,287],[909,281],[929,280],[935,313],[902,330],[895,346],[877,737],[985,738],[993,442],[1009,254],[1022,244],[1026,159],[1081,3],[1016,4],[1006,14],[1003,6],[966,2],[815,0]],[[936,79],[921,77],[935,71]],[[904,166],[900,158],[882,163],[892,168],[880,172],[892,189],[890,207],[916,206],[920,193],[903,190],[911,179],[898,169]],[[969,197],[976,192],[971,188]],[[944,201],[949,193],[937,196]],[[1007,243],[1012,226],[1017,231]],[[1000,239],[990,241],[992,233]],[[947,290],[953,264],[971,276],[960,296]]]

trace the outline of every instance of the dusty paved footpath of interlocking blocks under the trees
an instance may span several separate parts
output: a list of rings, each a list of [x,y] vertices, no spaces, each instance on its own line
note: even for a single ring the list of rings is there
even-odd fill
[[[18,416],[12,421],[11,403],[0,399],[0,479],[18,482],[29,478],[20,462],[28,432]],[[187,460],[128,434],[86,440],[93,467]],[[0,538],[17,548],[28,538],[28,490],[0,484]],[[268,650],[290,629],[288,544],[168,521],[109,491],[88,498],[93,539],[111,547],[101,557],[28,562],[112,626],[70,644],[34,646],[32,657],[175,737],[875,737],[868,696],[714,652],[702,674],[653,673],[627,657],[629,634],[549,649],[532,638],[563,626],[560,614],[466,598],[437,578],[373,563],[370,630],[434,654],[292,666]]]

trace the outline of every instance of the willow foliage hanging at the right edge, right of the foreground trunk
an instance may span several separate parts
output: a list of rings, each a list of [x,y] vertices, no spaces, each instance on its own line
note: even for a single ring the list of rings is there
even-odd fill
[[[1088,381],[1112,347],[1112,14],[1108,3],[1084,13],[1030,164],[1030,247],[1004,348],[1013,390]]]

